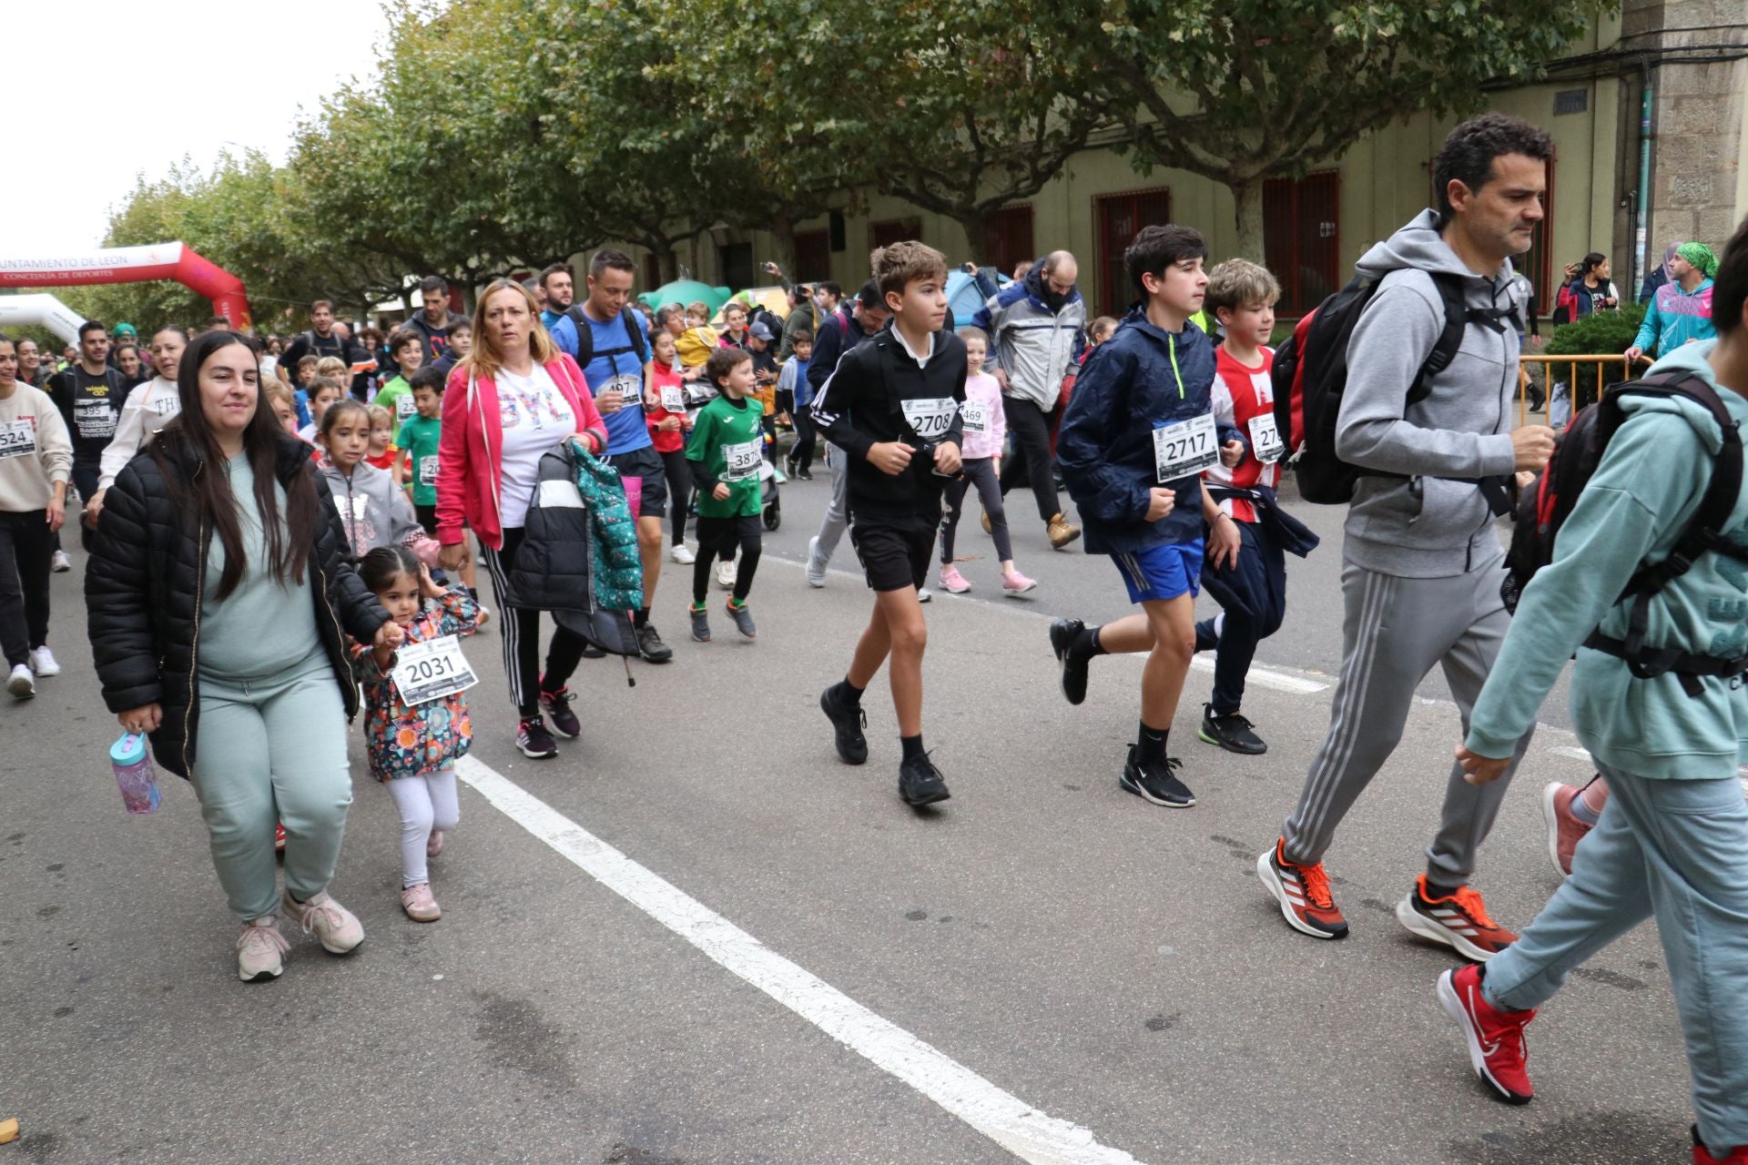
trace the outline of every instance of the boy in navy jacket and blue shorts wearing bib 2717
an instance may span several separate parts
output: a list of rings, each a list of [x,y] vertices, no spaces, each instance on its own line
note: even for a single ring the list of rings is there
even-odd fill
[[[1063,417],[1063,479],[1086,520],[1087,554],[1108,554],[1141,606],[1103,627],[1051,624],[1051,650],[1070,704],[1087,697],[1094,655],[1147,651],[1141,727],[1119,784],[1154,805],[1185,809],[1196,795],[1166,755],[1183,676],[1196,650],[1203,522],[1213,561],[1238,554],[1239,534],[1201,489],[1222,459],[1213,419],[1213,344],[1189,318],[1208,288],[1208,245],[1189,227],[1145,227],[1124,252],[1141,304],[1086,363]],[[1234,433],[1236,437],[1236,433]],[[1243,444],[1224,456],[1238,461]]]

